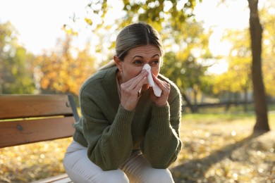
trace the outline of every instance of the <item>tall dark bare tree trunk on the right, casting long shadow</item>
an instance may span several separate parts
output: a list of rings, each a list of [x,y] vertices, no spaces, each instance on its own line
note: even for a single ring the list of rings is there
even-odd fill
[[[252,49],[252,84],[256,124],[254,130],[269,131],[267,100],[262,79],[262,25],[259,23],[258,0],[247,0],[250,8],[250,38]]]

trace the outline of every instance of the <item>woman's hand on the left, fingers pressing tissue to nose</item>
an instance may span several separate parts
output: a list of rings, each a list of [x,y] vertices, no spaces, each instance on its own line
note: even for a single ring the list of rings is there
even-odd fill
[[[121,84],[121,106],[128,111],[133,111],[138,104],[138,92],[143,84],[147,83],[147,71],[142,70],[139,75]]]

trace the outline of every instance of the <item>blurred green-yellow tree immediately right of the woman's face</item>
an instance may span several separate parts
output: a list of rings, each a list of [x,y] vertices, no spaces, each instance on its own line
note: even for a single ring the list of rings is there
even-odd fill
[[[190,111],[196,113],[198,110],[198,95],[208,92],[207,89],[210,85],[208,81],[212,80],[212,76],[205,74],[208,66],[198,63],[197,58],[191,53],[189,54],[185,58],[181,52],[174,53],[170,51],[166,53],[161,73],[177,84]],[[186,94],[186,89],[192,89],[192,101],[190,96]]]

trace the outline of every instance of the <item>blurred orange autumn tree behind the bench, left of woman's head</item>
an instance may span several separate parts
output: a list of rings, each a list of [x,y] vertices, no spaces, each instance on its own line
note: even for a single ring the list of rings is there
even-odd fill
[[[39,85],[42,92],[72,93],[78,96],[80,86],[94,72],[95,58],[90,56],[90,44],[82,51],[75,49],[74,57],[71,35],[61,40],[55,51],[36,59]]]

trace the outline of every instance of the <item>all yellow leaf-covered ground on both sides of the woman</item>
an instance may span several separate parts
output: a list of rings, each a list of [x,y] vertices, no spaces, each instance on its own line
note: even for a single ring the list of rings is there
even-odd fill
[[[175,182],[275,182],[275,122],[252,134],[253,118],[183,117]],[[32,182],[64,172],[71,138],[0,149],[0,182]]]

